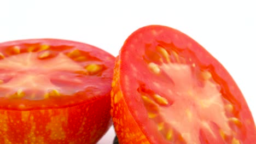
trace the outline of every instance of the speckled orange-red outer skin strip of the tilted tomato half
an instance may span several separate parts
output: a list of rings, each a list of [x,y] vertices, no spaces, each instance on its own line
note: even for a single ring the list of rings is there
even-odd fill
[[[149,143],[145,135],[139,129],[135,119],[132,117],[129,107],[126,105],[123,94],[120,92],[120,58],[115,62],[114,78],[111,91],[111,116],[118,136],[119,143]]]

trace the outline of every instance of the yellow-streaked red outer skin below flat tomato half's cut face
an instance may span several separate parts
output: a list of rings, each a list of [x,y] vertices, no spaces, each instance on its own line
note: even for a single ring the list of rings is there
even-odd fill
[[[108,130],[109,97],[61,109],[0,110],[1,143],[96,143]]]

